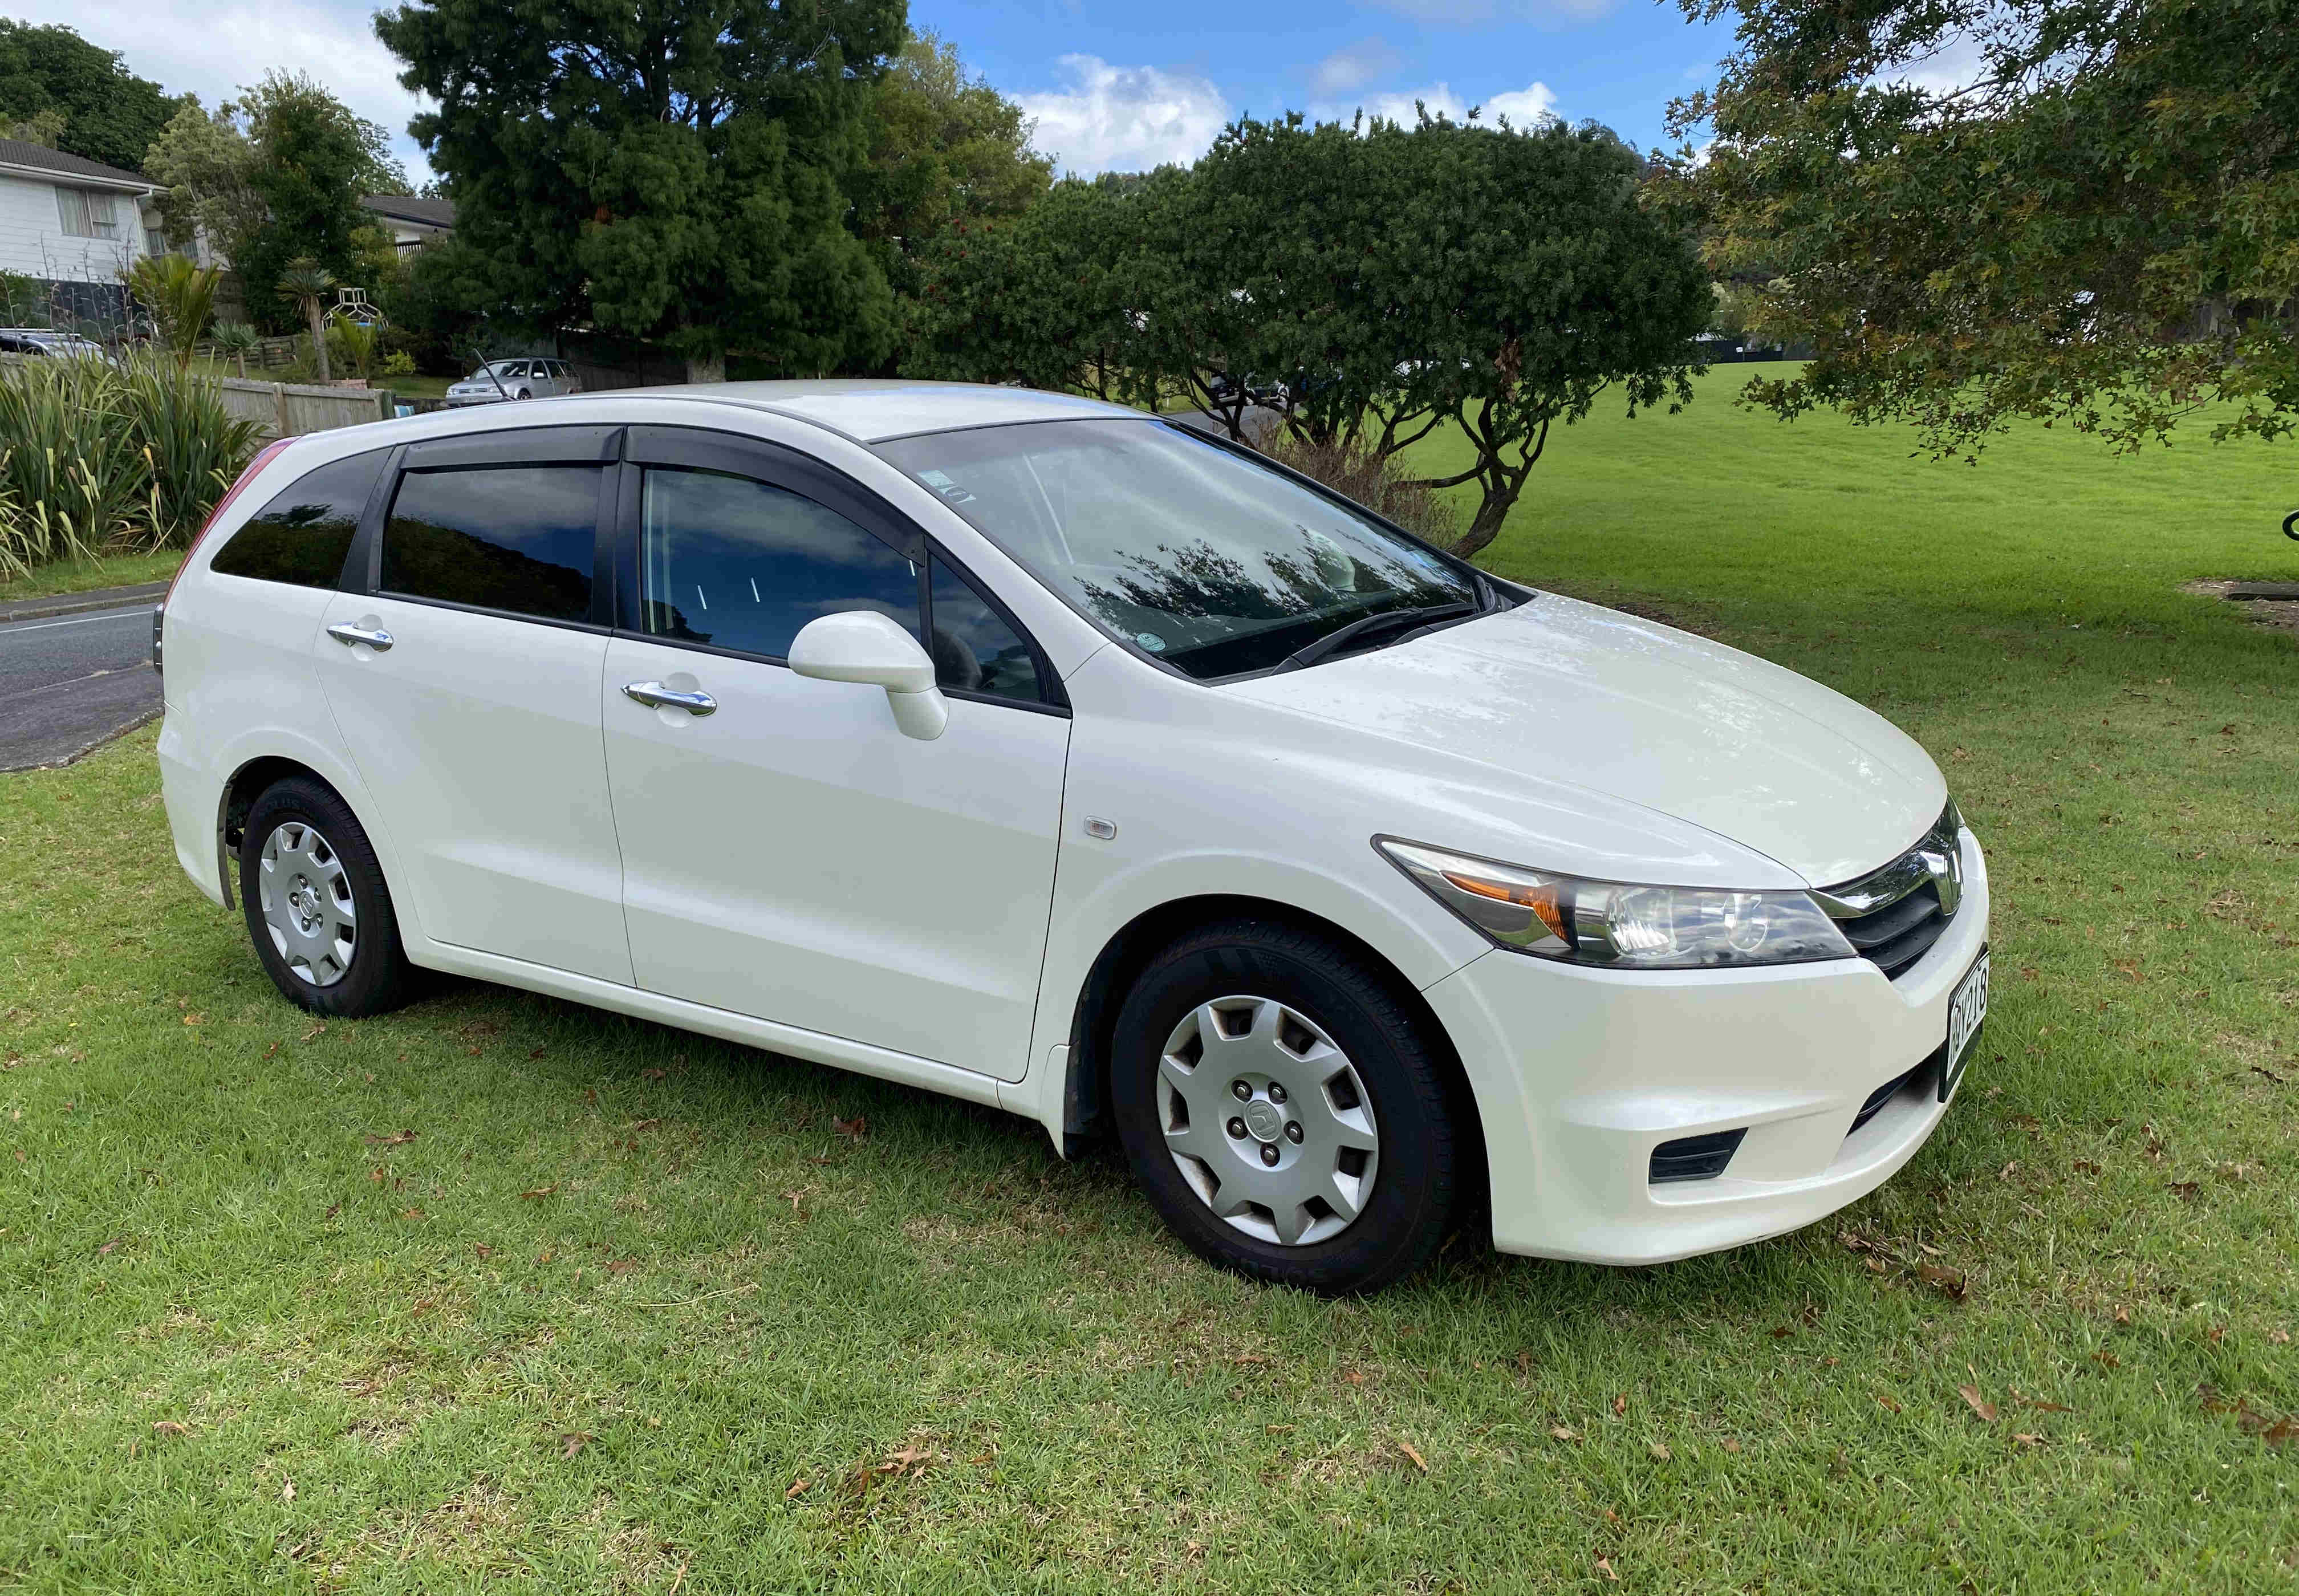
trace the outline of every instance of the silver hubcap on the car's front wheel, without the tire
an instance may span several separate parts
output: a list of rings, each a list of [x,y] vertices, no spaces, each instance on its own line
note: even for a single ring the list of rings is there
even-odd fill
[[[1191,1010],[1159,1058],[1159,1127],[1214,1214],[1283,1246],[1329,1242],[1366,1210],[1382,1157],[1350,1056],[1276,998]]]

